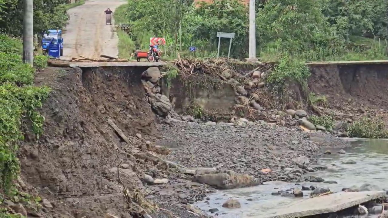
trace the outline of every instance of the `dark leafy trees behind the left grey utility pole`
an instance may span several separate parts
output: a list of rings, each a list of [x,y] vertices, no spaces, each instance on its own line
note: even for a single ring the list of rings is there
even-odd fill
[[[42,34],[48,29],[66,26],[69,15],[66,0],[34,0],[34,33]],[[23,33],[23,0],[0,0],[0,32],[14,36]]]

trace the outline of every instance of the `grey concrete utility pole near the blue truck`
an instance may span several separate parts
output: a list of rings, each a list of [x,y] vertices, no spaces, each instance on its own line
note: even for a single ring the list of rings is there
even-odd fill
[[[34,63],[33,0],[23,0],[23,62]]]

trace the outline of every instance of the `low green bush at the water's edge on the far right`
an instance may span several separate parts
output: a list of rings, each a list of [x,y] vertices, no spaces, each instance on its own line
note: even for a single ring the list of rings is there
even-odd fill
[[[348,127],[349,137],[388,138],[388,130],[382,117],[364,116]]]

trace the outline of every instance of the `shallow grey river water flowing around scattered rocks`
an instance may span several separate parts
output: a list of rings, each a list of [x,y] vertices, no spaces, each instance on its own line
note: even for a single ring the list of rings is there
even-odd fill
[[[377,185],[381,189],[388,189],[386,183],[388,179],[388,140],[386,139],[345,139],[350,140],[352,147],[344,149],[346,154],[336,154],[340,149],[329,148],[330,155],[324,155],[317,163],[329,166],[327,170],[317,171],[307,175],[316,175],[324,180],[334,180],[337,184],[328,183],[286,183],[268,182],[256,187],[242,189],[220,190],[210,196],[208,201],[200,201],[196,206],[204,211],[217,208],[219,218],[262,218],[268,215],[269,211],[282,208],[293,203],[300,198],[272,196],[272,192],[279,190],[290,190],[291,188],[301,188],[301,185],[329,187],[334,192],[340,192],[344,187],[352,185],[360,186],[364,183]],[[327,149],[323,149],[322,152]],[[356,164],[342,164],[342,161],[352,159]],[[334,165],[333,165],[334,164]],[[290,190],[291,192],[291,190]],[[308,198],[309,191],[303,191]],[[238,199],[241,208],[223,208],[222,204],[229,198]],[[210,215],[215,215],[214,213]],[[369,215],[368,218],[375,218],[377,215]]]

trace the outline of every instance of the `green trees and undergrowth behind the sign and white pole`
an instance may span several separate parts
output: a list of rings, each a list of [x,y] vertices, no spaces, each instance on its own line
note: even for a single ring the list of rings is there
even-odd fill
[[[217,52],[217,32],[236,33],[231,54],[248,55],[248,8],[237,0],[220,0],[195,7],[192,0],[128,0],[115,11],[116,23],[130,27],[133,45],[146,49],[150,37],[166,38],[165,54],[211,57]],[[258,55],[278,61],[285,52],[292,60],[338,61],[387,59],[388,2],[385,0],[258,0]],[[226,55],[229,40],[221,40]],[[182,43],[182,48],[180,47]],[[130,49],[133,50],[134,48]],[[128,52],[129,53],[129,52]]]

